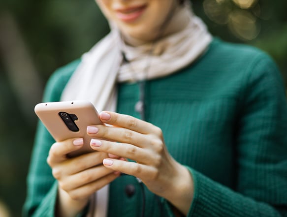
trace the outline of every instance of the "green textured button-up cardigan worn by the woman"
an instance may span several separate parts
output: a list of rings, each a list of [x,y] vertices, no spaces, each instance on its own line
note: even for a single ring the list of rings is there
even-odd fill
[[[80,61],[57,70],[43,101],[59,101]],[[96,84],[95,84],[96,85]],[[139,118],[137,84],[118,84],[119,113]],[[159,126],[169,153],[194,179],[189,217],[287,217],[287,100],[281,75],[263,52],[214,39],[197,62],[147,81],[146,120]],[[52,217],[57,182],[46,163],[54,143],[38,125],[25,217]],[[172,217],[146,187],[145,217]],[[140,184],[121,176],[110,185],[109,217],[139,217]]]

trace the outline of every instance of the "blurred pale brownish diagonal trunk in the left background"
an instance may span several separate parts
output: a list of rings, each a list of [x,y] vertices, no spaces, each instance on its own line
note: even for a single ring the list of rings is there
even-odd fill
[[[15,19],[9,12],[0,15],[0,56],[17,98],[15,106],[19,106],[27,123],[34,123],[31,111],[41,100],[42,82]]]

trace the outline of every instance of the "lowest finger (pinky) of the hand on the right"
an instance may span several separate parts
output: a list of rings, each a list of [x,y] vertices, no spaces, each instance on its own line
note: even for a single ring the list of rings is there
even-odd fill
[[[124,161],[119,159],[106,158],[103,165],[107,168],[121,171],[122,173],[135,176],[141,180],[155,180],[159,173],[154,167],[143,165],[136,162]]]

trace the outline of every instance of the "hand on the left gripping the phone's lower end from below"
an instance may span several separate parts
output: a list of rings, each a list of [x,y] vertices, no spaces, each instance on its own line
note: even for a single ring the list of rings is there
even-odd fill
[[[67,154],[83,146],[83,139],[68,139],[54,143],[47,162],[59,183],[57,217],[75,217],[88,204],[98,189],[115,180],[120,174],[103,166],[108,155],[92,152],[69,158]]]

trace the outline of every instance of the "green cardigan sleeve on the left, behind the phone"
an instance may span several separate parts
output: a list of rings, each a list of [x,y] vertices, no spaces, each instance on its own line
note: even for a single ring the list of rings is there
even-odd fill
[[[44,102],[59,101],[64,86],[79,61],[56,71],[49,79]],[[42,123],[38,123],[30,169],[27,179],[27,198],[23,207],[24,217],[54,217],[58,185],[46,162],[51,145],[55,142]]]

